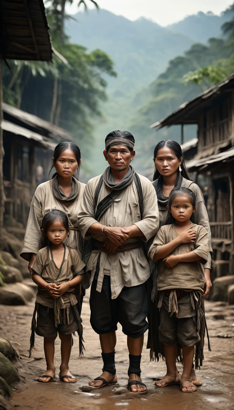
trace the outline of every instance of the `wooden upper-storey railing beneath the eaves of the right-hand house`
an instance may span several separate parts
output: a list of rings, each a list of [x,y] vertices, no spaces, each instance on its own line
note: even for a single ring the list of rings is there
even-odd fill
[[[211,127],[201,128],[199,130],[202,147],[213,146],[218,142],[229,139],[232,135],[232,118],[225,118]]]

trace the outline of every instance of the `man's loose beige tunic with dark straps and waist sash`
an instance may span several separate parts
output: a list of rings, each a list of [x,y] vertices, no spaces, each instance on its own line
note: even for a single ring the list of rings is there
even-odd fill
[[[80,210],[78,212],[78,227],[85,239],[91,237],[98,241],[105,241],[105,235],[95,235],[87,233],[93,223],[100,222],[102,225],[116,226],[123,228],[135,224],[143,232],[144,241],[148,241],[158,230],[159,212],[157,195],[151,182],[139,175],[143,191],[143,219],[141,220],[139,199],[136,185],[133,182],[122,191],[114,200],[112,205],[101,216],[100,221],[94,219],[94,194],[100,180],[98,177],[92,178],[86,185]],[[98,203],[111,193],[103,182]],[[138,238],[129,238],[126,243],[136,242]],[[98,276],[97,291],[101,292],[104,275],[111,277],[111,297],[117,298],[124,286],[131,287],[144,283],[150,277],[150,266],[142,248],[131,251],[119,252],[114,255],[107,255],[98,250],[92,251],[86,272],[91,271],[91,282],[95,274],[98,256],[100,255],[100,271]]]

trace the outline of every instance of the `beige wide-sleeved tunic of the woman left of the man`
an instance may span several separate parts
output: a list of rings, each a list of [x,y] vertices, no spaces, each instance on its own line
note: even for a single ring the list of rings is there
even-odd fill
[[[37,253],[42,247],[41,245],[41,221],[43,216],[54,209],[63,211],[67,214],[70,222],[75,230],[70,226],[69,237],[66,237],[64,244],[69,248],[77,250],[81,257],[83,239],[80,235],[77,225],[77,213],[80,208],[82,196],[84,194],[85,184],[75,181],[79,192],[78,197],[74,202],[60,203],[53,195],[51,180],[43,182],[36,188],[34,197],[30,207],[30,212],[27,220],[27,227],[23,243],[23,249],[20,256],[29,261],[30,253]],[[70,223],[69,223],[70,225]]]

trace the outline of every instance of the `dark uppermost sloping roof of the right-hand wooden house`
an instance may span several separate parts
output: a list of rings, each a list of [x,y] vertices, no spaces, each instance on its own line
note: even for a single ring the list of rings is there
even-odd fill
[[[163,128],[165,126],[177,124],[198,124],[198,118],[204,107],[209,107],[218,98],[227,91],[234,90],[234,74],[220,81],[218,84],[199,94],[192,100],[183,103],[174,112],[160,121],[150,125],[150,128]]]

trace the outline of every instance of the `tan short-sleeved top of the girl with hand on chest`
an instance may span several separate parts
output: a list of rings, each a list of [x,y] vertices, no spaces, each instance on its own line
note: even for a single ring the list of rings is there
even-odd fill
[[[195,242],[180,244],[170,255],[183,255],[193,251],[207,261],[209,256],[208,234],[205,228],[192,223],[191,228],[196,232]],[[152,259],[161,246],[168,244],[179,236],[175,224],[164,225],[159,228],[150,246],[148,256]],[[168,255],[169,256],[169,255]],[[201,262],[179,262],[173,268],[168,268],[162,260],[158,261],[158,290],[166,289],[197,289],[202,290],[205,285],[204,268]]]

